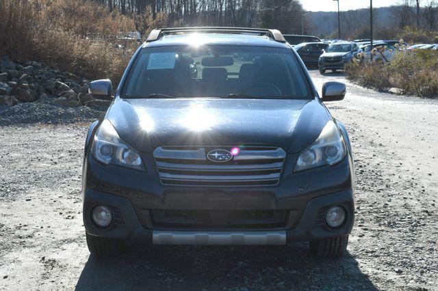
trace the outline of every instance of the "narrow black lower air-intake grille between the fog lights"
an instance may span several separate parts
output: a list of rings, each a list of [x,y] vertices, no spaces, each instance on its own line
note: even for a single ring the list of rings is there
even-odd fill
[[[283,227],[288,213],[287,210],[149,210],[153,227],[205,229]]]

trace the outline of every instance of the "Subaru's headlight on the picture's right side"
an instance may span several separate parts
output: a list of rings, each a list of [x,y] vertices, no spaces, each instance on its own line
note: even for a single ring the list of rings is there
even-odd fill
[[[346,155],[344,139],[335,122],[330,120],[318,139],[298,156],[294,171],[303,171],[323,165],[335,165]]]

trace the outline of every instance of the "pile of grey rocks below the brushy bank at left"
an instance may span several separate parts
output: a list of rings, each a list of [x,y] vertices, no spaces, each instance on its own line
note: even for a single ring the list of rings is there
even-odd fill
[[[53,70],[36,61],[17,64],[9,57],[0,59],[0,107],[41,102],[106,109],[110,101],[92,98],[88,84],[75,74]]]

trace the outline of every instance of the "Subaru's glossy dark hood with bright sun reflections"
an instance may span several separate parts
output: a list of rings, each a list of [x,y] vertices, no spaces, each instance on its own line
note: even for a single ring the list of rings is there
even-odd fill
[[[105,118],[140,152],[158,146],[279,146],[300,152],[331,119],[318,100],[116,99]]]

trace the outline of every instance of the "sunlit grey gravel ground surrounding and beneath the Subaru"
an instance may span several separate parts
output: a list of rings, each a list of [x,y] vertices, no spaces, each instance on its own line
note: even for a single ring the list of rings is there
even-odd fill
[[[437,289],[438,100],[374,92],[342,74],[311,76],[318,88],[325,81],[348,85],[344,101],[327,104],[355,152],[357,219],[344,258],[312,258],[305,243],[136,245],[120,258],[90,258],[81,158],[87,126],[100,113],[59,124],[49,123],[57,114],[35,123],[3,111],[0,289]]]

